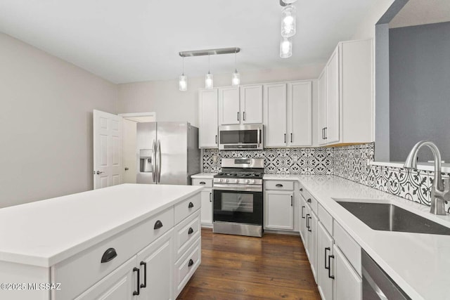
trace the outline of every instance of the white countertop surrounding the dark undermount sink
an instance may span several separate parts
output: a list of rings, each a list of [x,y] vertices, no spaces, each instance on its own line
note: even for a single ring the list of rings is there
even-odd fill
[[[450,236],[373,230],[333,198],[391,202],[450,227],[450,216],[430,214],[430,208],[354,183],[338,176],[265,174],[264,179],[298,180],[333,219],[397,282],[412,299],[450,299]],[[373,201],[371,201],[373,202]],[[319,216],[320,219],[320,216]]]

